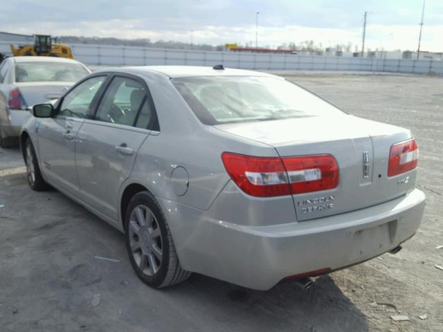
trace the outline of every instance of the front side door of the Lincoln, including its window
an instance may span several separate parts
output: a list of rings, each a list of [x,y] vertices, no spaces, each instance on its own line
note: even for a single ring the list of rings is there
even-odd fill
[[[64,95],[53,117],[37,122],[39,159],[45,178],[74,195],[79,190],[74,154],[76,136],[106,79],[106,75],[98,75],[84,80]]]

